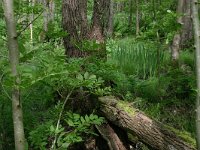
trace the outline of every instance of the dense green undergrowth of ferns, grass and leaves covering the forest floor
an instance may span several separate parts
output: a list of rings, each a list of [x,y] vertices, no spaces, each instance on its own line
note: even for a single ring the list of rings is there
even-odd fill
[[[100,123],[101,119],[99,120],[97,116],[92,119],[88,116],[81,117],[74,114],[75,112],[63,112],[61,119],[66,122],[62,122],[56,128],[63,102],[69,93],[71,98],[83,100],[84,105],[87,105],[84,101],[87,95],[116,95],[131,102],[133,106],[151,117],[194,135],[193,54],[184,51],[181,54],[180,67],[174,68],[170,63],[167,50],[162,54],[158,64],[155,53],[157,49],[154,49],[153,43],[150,43],[151,46],[147,46],[145,50],[142,48],[146,44],[137,41],[134,42],[135,45],[132,44],[133,46],[123,47],[124,42],[129,43],[131,40],[130,38],[123,39],[122,42],[112,40],[111,42],[115,44],[108,45],[109,55],[106,62],[95,58],[66,61],[62,47],[52,48],[49,44],[42,44],[31,48],[27,44],[27,49],[30,51],[23,54],[21,58],[28,55],[29,59],[22,61],[19,70],[29,146],[34,149],[45,149],[53,142],[56,133],[60,140],[57,144],[68,147],[69,143],[84,140],[81,135],[92,134],[89,131],[90,125]],[[33,52],[34,55],[31,56]],[[155,59],[146,61],[148,57],[155,57]],[[1,64],[4,64],[5,68],[2,69],[4,71],[1,80],[1,122],[3,121],[5,135],[10,136],[12,120],[8,95],[12,78],[9,77],[7,59],[1,59]],[[74,97],[73,93],[79,94]],[[69,102],[73,103],[70,99]],[[74,116],[75,120],[70,119],[69,116]],[[80,122],[78,122],[79,118],[82,119]],[[86,121],[88,123],[84,125]],[[63,126],[67,125],[70,130],[74,128],[70,134],[63,133]]]

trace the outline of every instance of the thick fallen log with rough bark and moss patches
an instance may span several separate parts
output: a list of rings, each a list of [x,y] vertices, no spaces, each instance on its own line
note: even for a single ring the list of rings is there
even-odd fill
[[[136,135],[140,141],[158,150],[195,150],[195,140],[147,117],[129,103],[115,97],[100,97],[100,111],[113,124]]]

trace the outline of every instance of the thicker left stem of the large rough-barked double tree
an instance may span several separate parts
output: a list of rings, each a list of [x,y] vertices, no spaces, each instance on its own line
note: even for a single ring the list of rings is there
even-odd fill
[[[62,16],[63,29],[68,33],[64,38],[66,55],[85,56],[86,53],[81,51],[81,41],[88,36],[87,0],[63,0]]]

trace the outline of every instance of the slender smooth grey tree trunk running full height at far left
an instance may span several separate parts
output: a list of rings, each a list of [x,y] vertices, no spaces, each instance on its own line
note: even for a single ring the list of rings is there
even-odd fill
[[[15,135],[15,149],[25,149],[25,137],[23,126],[22,105],[20,101],[19,92],[19,75],[17,66],[19,65],[19,49],[17,42],[16,25],[13,12],[13,0],[3,0],[4,13],[6,19],[7,35],[8,35],[8,49],[9,59],[11,65],[12,76],[14,79],[12,87],[12,111]]]

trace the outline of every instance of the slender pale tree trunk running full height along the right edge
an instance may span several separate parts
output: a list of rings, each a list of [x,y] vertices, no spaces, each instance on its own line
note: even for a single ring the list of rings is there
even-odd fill
[[[200,149],[200,28],[198,1],[192,0],[194,38],[196,48],[196,73],[197,73],[197,99],[196,99],[196,139],[197,147]]]

